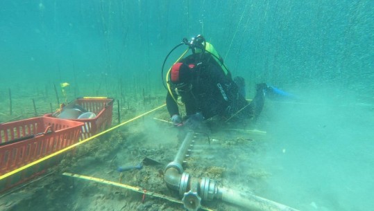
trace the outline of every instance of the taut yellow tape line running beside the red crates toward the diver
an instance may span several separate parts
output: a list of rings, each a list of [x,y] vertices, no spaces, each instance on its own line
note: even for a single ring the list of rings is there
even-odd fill
[[[43,158],[40,158],[39,160],[35,160],[33,163],[28,163],[27,165],[24,165],[24,166],[22,166],[22,167],[19,167],[18,169],[13,170],[12,172],[8,172],[8,173],[6,173],[6,174],[4,174],[4,175],[1,175],[1,176],[0,176],[0,180],[2,180],[3,178],[6,178],[6,177],[8,177],[8,176],[11,176],[12,174],[16,174],[17,172],[21,172],[21,171],[23,171],[24,169],[26,169],[26,168],[28,168],[28,167],[31,167],[31,166],[33,166],[33,165],[36,165],[37,163],[40,163],[40,162],[42,162],[42,161],[44,161],[44,160],[47,160],[47,159],[49,159],[49,158],[52,158],[53,156],[57,156],[57,155],[59,155],[59,154],[62,154],[62,153],[64,153],[64,152],[67,152],[68,150],[73,149],[74,147],[77,147],[78,145],[82,145],[83,143],[86,143],[86,142],[89,141],[89,140],[92,140],[92,139],[94,139],[94,138],[96,138],[96,137],[98,137],[98,136],[101,136],[101,135],[103,135],[103,134],[105,134],[105,133],[108,133],[109,131],[112,131],[112,130],[114,130],[114,129],[117,129],[117,127],[121,127],[122,125],[126,125],[128,122],[133,122],[133,120],[137,120],[138,118],[141,118],[142,116],[146,116],[148,113],[152,113],[153,111],[156,111],[156,110],[158,110],[158,109],[161,109],[161,108],[164,107],[165,105],[166,105],[166,104],[163,104],[163,105],[161,105],[160,107],[157,107],[157,108],[155,108],[155,109],[152,109],[151,111],[147,111],[146,113],[142,113],[141,115],[139,115],[139,116],[137,116],[137,117],[135,117],[135,118],[132,118],[132,119],[130,119],[130,120],[127,120],[126,122],[122,122],[121,124],[116,125],[116,126],[114,126],[114,127],[111,127],[110,129],[107,129],[107,130],[105,130],[105,131],[102,131],[101,133],[96,134],[96,135],[94,135],[94,136],[91,136],[90,138],[86,138],[85,140],[82,140],[82,141],[80,141],[79,143],[76,143],[76,144],[74,144],[74,145],[70,145],[69,147],[66,147],[66,148],[64,148],[64,149],[61,149],[61,150],[58,151],[58,152],[55,152],[55,153],[53,153],[53,154],[49,154],[48,156],[45,156],[45,157],[43,157]]]

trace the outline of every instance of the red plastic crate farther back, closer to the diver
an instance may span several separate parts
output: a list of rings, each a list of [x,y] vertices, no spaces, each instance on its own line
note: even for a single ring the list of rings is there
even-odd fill
[[[82,133],[80,138],[82,140],[90,138],[95,134],[98,134],[105,129],[108,129],[112,125],[112,113],[113,113],[113,98],[77,98],[69,104],[78,104],[83,109],[96,114],[95,118],[92,119],[71,119],[78,122],[83,122],[85,125],[82,126]],[[51,113],[45,116],[52,116]]]

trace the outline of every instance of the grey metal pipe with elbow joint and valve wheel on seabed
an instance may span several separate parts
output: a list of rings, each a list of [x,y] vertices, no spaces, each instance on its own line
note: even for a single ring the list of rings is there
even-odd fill
[[[185,136],[176,157],[167,165],[164,173],[165,183],[169,188],[177,190],[180,196],[183,196],[182,201],[187,210],[198,210],[201,207],[202,200],[221,199],[253,211],[298,211],[260,196],[236,192],[226,187],[218,187],[217,183],[210,178],[196,178],[183,172],[182,163],[189,147],[194,142],[193,138],[193,132],[189,132]]]

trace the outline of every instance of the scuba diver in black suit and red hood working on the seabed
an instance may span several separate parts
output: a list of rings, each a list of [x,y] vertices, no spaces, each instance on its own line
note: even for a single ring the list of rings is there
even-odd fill
[[[226,121],[256,120],[264,106],[265,93],[271,87],[265,83],[257,84],[255,98],[249,103],[244,78],[232,80],[222,57],[203,36],[198,35],[191,42],[183,39],[182,44],[189,46],[192,54],[184,58],[182,55],[167,73],[167,110],[174,125],[196,129],[203,120],[213,116],[221,116]],[[185,104],[186,116],[183,118],[178,109],[178,95]]]

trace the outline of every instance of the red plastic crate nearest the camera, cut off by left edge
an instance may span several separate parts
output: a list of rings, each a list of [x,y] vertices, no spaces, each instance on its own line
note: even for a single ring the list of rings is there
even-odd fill
[[[83,125],[49,117],[1,124],[0,175],[78,143]]]

